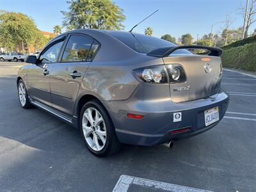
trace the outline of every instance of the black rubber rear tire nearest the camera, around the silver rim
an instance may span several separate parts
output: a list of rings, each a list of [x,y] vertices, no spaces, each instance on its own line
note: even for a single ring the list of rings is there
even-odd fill
[[[97,109],[97,111],[99,111],[99,113],[102,116],[104,123],[106,125],[106,144],[104,145],[102,150],[99,150],[99,151],[93,150],[93,148],[91,148],[90,145],[88,145],[88,143],[85,139],[84,133],[83,133],[82,120],[83,120],[84,111],[88,108]],[[84,141],[86,147],[90,150],[90,152],[92,152],[92,154],[94,154],[95,156],[98,156],[98,157],[110,156],[112,154],[115,154],[115,152],[117,152],[120,149],[121,144],[118,141],[118,139],[116,138],[115,127],[111,121],[108,111],[106,111],[106,109],[99,102],[99,100],[91,100],[91,101],[87,102],[86,104],[84,104],[84,106],[81,110],[79,119],[80,119],[79,126],[80,126],[80,131],[81,131],[81,134],[83,137],[83,141]]]

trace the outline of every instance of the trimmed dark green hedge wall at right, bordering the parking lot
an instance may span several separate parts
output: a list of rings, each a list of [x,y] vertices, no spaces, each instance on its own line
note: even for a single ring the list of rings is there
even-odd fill
[[[222,64],[227,68],[240,68],[256,72],[256,43],[224,50]]]

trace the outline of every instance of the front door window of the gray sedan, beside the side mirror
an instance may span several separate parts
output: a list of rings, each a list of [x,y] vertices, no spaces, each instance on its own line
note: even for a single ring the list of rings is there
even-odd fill
[[[42,61],[42,63],[54,63],[58,60],[58,55],[61,51],[61,45],[63,44],[63,41],[58,42],[54,45],[52,45],[47,51],[43,52],[40,55],[39,60]]]

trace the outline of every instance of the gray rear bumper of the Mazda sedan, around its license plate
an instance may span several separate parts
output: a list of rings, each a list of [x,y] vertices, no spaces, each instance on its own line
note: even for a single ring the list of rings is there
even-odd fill
[[[180,140],[205,132],[225,115],[229,97],[225,92],[206,99],[174,103],[170,98],[161,100],[105,101],[121,143],[131,145],[157,145],[170,140]],[[205,127],[204,111],[218,106],[220,120]],[[173,122],[173,113],[181,112],[182,120]],[[127,118],[127,113],[144,115],[140,120]],[[170,134],[170,131],[189,127],[190,131]]]

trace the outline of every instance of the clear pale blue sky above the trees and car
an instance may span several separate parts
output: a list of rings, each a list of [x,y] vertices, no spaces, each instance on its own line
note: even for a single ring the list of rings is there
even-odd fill
[[[124,10],[126,19],[123,24],[129,31],[135,24],[150,13],[159,10],[149,19],[134,29],[136,33],[144,33],[150,26],[153,35],[161,37],[170,34],[179,38],[190,33],[196,40],[211,32],[212,24],[225,20],[226,15],[232,18],[231,28],[243,26],[243,16],[239,7],[244,7],[246,0],[113,0]],[[65,0],[0,0],[0,10],[22,12],[35,20],[38,29],[52,32],[55,25],[62,24],[62,10],[67,11]],[[213,26],[213,33],[221,33],[223,23]],[[250,31],[256,28],[253,24]],[[65,30],[63,30],[65,31]]]

